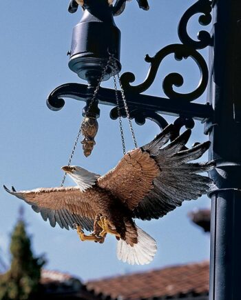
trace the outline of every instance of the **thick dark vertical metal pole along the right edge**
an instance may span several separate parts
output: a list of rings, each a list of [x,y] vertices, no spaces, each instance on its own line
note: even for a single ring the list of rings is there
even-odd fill
[[[213,3],[209,101],[211,172],[218,189],[211,193],[209,300],[240,300],[241,270],[241,1]]]

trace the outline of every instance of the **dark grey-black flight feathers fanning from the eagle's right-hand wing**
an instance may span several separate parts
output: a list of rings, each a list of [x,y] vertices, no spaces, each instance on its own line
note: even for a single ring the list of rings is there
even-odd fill
[[[201,176],[200,172],[208,172],[215,163],[189,163],[198,159],[209,148],[210,142],[200,143],[197,146],[182,150],[187,143],[191,130],[186,130],[166,147],[168,126],[165,132],[159,134],[153,143],[142,149],[149,152],[160,168],[160,174],[154,179],[154,188],[140,201],[134,210],[134,216],[139,219],[158,219],[167,212],[181,206],[184,200],[198,199],[211,188],[213,181],[209,177]]]

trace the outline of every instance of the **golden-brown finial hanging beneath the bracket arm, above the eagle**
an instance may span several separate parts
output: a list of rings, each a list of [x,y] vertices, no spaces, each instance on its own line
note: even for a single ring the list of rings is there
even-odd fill
[[[81,128],[81,133],[83,134],[83,141],[81,141],[83,145],[83,152],[85,157],[90,156],[94,145],[96,142],[94,141],[94,137],[98,132],[98,122],[94,117],[85,117],[83,120],[83,125]]]

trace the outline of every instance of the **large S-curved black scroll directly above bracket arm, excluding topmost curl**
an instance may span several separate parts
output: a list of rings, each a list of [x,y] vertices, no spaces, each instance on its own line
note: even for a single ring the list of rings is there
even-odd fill
[[[209,76],[207,63],[205,62],[205,59],[202,57],[202,55],[198,53],[195,49],[182,44],[173,44],[173,45],[166,46],[165,48],[157,52],[154,57],[149,57],[149,55],[147,55],[145,57],[145,61],[151,63],[151,66],[149,68],[149,72],[147,74],[147,78],[145,79],[145,81],[143,83],[140,83],[138,86],[131,86],[130,83],[135,80],[135,75],[131,72],[126,72],[121,76],[121,82],[123,84],[123,88],[125,90],[128,90],[129,92],[134,92],[134,93],[145,92],[145,90],[147,90],[154,82],[160,63],[163,61],[165,57],[167,57],[167,55],[172,53],[174,54],[175,59],[177,61],[180,61],[182,59],[187,59],[187,57],[191,57],[194,61],[196,61],[200,69],[201,79],[196,90],[188,94],[182,94],[174,91],[173,89],[173,86],[177,86],[177,87],[182,86],[184,82],[182,75],[178,73],[168,74],[167,77],[165,77],[165,79],[163,80],[163,90],[165,94],[170,99],[185,98],[186,101],[193,101],[198,97],[200,97],[201,94],[207,88],[207,82]]]

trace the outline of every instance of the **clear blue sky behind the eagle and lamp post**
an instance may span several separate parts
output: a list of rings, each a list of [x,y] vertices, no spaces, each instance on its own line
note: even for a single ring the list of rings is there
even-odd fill
[[[148,63],[145,54],[153,56],[169,43],[178,43],[177,24],[182,14],[194,3],[191,0],[150,0],[150,10],[138,9],[135,0],[127,3],[125,12],[116,17],[122,32],[122,72],[136,74],[136,83],[145,79]],[[72,145],[81,122],[83,102],[67,99],[59,112],[45,105],[48,93],[62,83],[83,82],[67,67],[72,28],[81,18],[67,12],[68,1],[1,1],[1,171],[0,184],[18,190],[59,186]],[[189,33],[196,36],[202,26],[197,17],[189,22]],[[202,52],[207,57],[207,51]],[[187,59],[167,57],[148,94],[163,96],[161,81],[169,72],[182,72],[185,84],[181,92],[193,90],[200,79],[198,67]],[[112,87],[112,80],[103,83]],[[205,102],[205,94],[198,99]],[[101,106],[96,147],[91,157],[83,156],[78,146],[73,164],[104,174],[122,157],[118,121],[109,119],[110,107]],[[170,117],[168,121],[173,121]],[[134,124],[138,145],[147,143],[158,133],[158,127],[147,121]],[[127,148],[133,148],[125,124]],[[203,125],[198,121],[189,143],[205,141]],[[204,157],[207,159],[207,155]],[[72,185],[71,179],[65,181]],[[83,280],[109,277],[113,274],[140,272],[176,263],[209,258],[209,235],[193,226],[187,214],[196,208],[209,207],[202,197],[189,201],[158,221],[137,221],[158,243],[158,253],[148,266],[129,266],[116,259],[116,241],[108,237],[103,245],[81,242],[75,231],[51,228],[30,206],[0,189],[0,254],[8,261],[10,232],[17,221],[19,206],[25,208],[25,221],[32,235],[35,254],[45,253],[46,268],[75,274]]]

